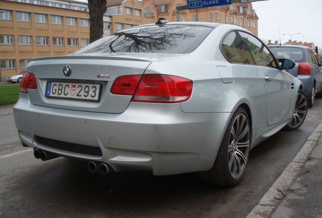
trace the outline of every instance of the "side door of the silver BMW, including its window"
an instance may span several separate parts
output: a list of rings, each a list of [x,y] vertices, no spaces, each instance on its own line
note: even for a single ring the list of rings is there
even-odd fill
[[[276,60],[267,47],[256,37],[239,32],[251,51],[255,64],[264,75],[267,96],[267,125],[271,126],[292,116],[294,87],[292,75],[280,70]]]

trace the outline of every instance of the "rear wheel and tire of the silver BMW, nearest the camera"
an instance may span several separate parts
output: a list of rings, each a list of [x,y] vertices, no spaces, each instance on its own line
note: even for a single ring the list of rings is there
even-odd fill
[[[251,128],[247,112],[243,107],[233,114],[213,167],[200,172],[200,178],[211,184],[234,186],[245,172],[251,144]]]

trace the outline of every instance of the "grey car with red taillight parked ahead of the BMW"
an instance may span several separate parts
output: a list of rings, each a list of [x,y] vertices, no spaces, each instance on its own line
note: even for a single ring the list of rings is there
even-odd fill
[[[322,67],[307,46],[299,45],[269,45],[275,58],[288,58],[296,65],[287,70],[303,83],[303,91],[308,98],[308,106],[312,107],[315,95],[322,97]]]

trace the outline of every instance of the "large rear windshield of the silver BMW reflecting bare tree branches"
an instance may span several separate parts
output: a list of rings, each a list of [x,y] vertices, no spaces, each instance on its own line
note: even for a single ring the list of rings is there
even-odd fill
[[[195,25],[142,26],[120,31],[76,51],[83,53],[190,53],[214,28]]]

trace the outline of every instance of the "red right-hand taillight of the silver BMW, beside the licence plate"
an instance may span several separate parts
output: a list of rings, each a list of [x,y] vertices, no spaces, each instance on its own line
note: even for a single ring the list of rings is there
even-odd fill
[[[182,77],[132,75],[116,78],[111,93],[133,95],[132,101],[136,102],[178,103],[190,98],[192,87],[192,81]]]

